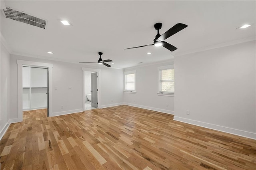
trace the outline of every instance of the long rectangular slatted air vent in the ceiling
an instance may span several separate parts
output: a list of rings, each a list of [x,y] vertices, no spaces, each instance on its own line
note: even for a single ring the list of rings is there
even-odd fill
[[[2,10],[6,18],[46,29],[46,20],[6,7]]]

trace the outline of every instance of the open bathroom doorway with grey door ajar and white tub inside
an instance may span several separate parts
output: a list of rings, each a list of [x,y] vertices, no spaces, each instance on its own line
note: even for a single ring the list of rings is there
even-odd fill
[[[83,110],[100,108],[100,69],[82,68]]]

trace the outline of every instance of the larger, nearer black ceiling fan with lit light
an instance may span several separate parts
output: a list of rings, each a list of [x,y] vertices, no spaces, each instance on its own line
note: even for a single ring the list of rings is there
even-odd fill
[[[168,31],[166,31],[164,34],[162,34],[162,36],[161,36],[159,34],[159,30],[162,28],[162,23],[156,23],[156,24],[154,24],[154,28],[157,30],[157,34],[156,34],[156,38],[154,39],[153,44],[142,45],[142,46],[138,46],[138,47],[131,47],[131,48],[126,48],[126,49],[132,49],[132,48],[146,47],[146,46],[149,46],[149,45],[155,45],[156,47],[163,46],[166,49],[169,49],[170,51],[174,51],[177,48],[174,47],[173,45],[167,43],[167,42],[164,42],[164,40],[169,38],[170,36],[176,34],[177,32],[183,30],[186,27],[187,27],[186,24],[178,23],[175,26],[173,26],[172,28],[170,28]]]

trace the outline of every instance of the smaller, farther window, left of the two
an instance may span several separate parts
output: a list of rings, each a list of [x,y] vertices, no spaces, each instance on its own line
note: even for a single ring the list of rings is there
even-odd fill
[[[124,91],[135,92],[136,71],[124,72]]]

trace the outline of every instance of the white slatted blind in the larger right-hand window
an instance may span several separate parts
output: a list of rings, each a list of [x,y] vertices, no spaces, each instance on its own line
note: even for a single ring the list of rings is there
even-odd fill
[[[174,93],[174,69],[160,70],[160,93]]]

